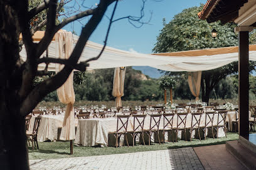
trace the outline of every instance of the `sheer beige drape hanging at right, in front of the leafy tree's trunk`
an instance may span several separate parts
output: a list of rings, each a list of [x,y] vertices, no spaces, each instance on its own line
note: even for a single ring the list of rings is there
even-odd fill
[[[188,86],[193,96],[196,97],[196,101],[199,100],[201,75],[202,75],[201,71],[189,72],[189,75],[188,75]]]

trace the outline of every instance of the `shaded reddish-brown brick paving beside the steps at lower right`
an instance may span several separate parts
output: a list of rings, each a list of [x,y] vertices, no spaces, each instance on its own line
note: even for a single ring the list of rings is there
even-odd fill
[[[228,153],[225,144],[201,146],[194,148],[194,150],[205,170],[246,169],[232,154]]]

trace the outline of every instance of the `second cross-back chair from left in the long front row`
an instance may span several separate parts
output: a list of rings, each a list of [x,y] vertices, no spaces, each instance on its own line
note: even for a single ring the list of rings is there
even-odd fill
[[[144,140],[144,122],[146,118],[146,114],[132,114],[133,119],[133,126],[132,126],[132,146],[136,144],[136,137],[138,134],[141,135],[141,139],[143,144],[145,145]]]

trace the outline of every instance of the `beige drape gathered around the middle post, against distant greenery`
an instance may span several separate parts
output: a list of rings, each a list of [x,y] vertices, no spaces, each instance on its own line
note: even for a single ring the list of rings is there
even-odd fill
[[[115,97],[115,105],[117,107],[122,106],[121,97],[124,96],[125,70],[126,68],[124,69],[115,68],[115,71],[114,71],[112,95]]]

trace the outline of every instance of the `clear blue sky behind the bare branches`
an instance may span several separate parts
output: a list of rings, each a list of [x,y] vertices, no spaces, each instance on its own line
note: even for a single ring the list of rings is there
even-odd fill
[[[95,2],[99,1],[87,0],[85,1],[84,6],[95,6]],[[205,2],[206,0],[147,0],[144,8],[145,17],[143,21],[148,21],[152,11],[152,18],[149,24],[144,24],[142,27],[136,28],[132,26],[127,19],[114,22],[110,29],[107,46],[126,51],[134,50],[138,53],[152,53],[152,48],[156,43],[156,37],[163,28],[163,18],[166,18],[166,22],[168,23],[173,19],[174,15],[183,11],[183,9],[192,6],[200,6],[201,3],[205,4]],[[129,15],[139,16],[141,6],[141,0],[119,1],[114,19]],[[110,17],[113,7],[114,4],[108,8],[108,11],[106,12],[107,16]],[[85,21],[88,21],[88,18],[82,22]],[[109,19],[104,17],[90,37],[90,41],[103,44],[108,25]],[[82,24],[80,24],[80,22],[74,22],[65,26],[64,29],[68,31],[74,30],[79,35],[82,29]]]

